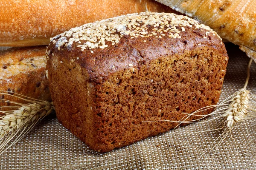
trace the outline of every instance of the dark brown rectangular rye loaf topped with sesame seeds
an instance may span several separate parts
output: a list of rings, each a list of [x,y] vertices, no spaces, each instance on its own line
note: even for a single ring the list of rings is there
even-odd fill
[[[51,39],[46,56],[58,120],[98,152],[177,125],[144,121],[179,121],[215,105],[228,60],[209,27],[166,13],[73,28]]]

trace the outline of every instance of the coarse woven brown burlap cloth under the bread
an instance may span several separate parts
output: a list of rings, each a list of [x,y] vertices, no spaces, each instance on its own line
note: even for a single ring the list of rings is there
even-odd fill
[[[230,60],[220,100],[244,86],[249,61],[237,46],[227,45],[227,50]],[[253,63],[247,89],[254,94],[256,94],[255,75],[256,64]],[[214,145],[218,144],[218,141],[214,141],[221,131],[197,132],[212,129],[221,120],[179,127],[130,146],[100,154],[90,150],[52,115],[0,156],[0,168],[15,170],[256,169],[256,122],[234,129],[232,138],[228,136],[218,150],[207,150],[212,142]]]

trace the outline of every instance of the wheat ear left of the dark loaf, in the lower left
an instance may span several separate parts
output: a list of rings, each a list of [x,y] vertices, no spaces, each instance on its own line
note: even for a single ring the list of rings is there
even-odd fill
[[[0,94],[14,96],[28,102],[27,104],[21,104],[1,99],[16,105],[9,107],[14,108],[13,111],[0,111],[0,113],[3,113],[0,116],[0,155],[2,155],[9,147],[26,136],[45,116],[49,115],[54,106],[52,102],[32,99],[19,94],[12,95],[4,91]]]

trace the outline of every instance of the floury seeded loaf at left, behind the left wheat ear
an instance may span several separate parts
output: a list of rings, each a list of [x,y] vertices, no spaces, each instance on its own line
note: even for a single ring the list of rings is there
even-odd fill
[[[0,52],[0,91],[21,94],[35,99],[51,100],[45,73],[46,46],[9,48]],[[5,93],[6,93],[5,92]],[[10,102],[24,103],[14,96],[0,94],[0,106]],[[0,110],[8,108],[0,108]]]

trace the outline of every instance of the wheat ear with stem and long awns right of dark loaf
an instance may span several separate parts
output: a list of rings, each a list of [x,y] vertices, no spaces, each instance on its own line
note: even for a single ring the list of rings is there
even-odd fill
[[[204,108],[200,108],[193,113],[183,113],[185,116],[181,118],[179,121],[172,121],[172,120],[155,120],[155,121],[143,121],[143,122],[176,122],[179,123],[204,123],[212,121],[213,119],[218,119],[224,117],[224,122],[227,124],[228,128],[231,128],[235,125],[235,123],[239,123],[244,121],[245,119],[249,119],[250,116],[256,116],[256,96],[250,91],[246,90],[249,78],[250,78],[250,66],[252,64],[252,59],[248,64],[247,68],[247,78],[244,85],[244,88],[241,88],[239,91],[236,91],[233,95],[227,97],[219,103],[218,105],[210,105]],[[199,114],[200,112],[206,111],[208,109],[215,108],[212,113],[209,114]],[[218,115],[213,119],[208,119],[201,122],[195,122],[201,119],[204,119],[210,115]],[[190,116],[198,116],[198,119],[195,120],[187,120]],[[177,127],[176,126],[176,127]]]

